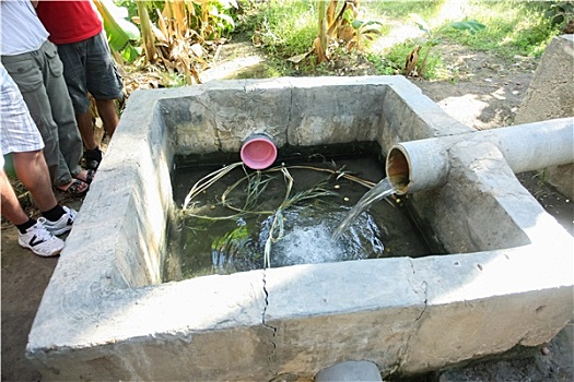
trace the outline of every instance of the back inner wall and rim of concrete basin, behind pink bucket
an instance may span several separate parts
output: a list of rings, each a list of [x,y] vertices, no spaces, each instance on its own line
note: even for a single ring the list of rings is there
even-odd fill
[[[399,76],[222,81],[183,88],[160,104],[180,155],[239,152],[259,132],[279,148],[377,141],[385,150],[400,140],[471,131]]]

